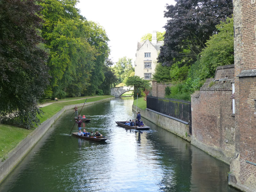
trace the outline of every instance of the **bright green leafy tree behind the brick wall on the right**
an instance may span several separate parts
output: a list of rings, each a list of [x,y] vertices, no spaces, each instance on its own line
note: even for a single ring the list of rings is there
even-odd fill
[[[218,66],[234,64],[234,24],[227,18],[216,26],[218,33],[210,37],[200,53],[201,78],[214,77]]]

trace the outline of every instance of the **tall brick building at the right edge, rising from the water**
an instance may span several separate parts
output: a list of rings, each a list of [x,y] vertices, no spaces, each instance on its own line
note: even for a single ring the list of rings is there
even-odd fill
[[[256,191],[256,0],[233,0],[235,154],[228,183]]]

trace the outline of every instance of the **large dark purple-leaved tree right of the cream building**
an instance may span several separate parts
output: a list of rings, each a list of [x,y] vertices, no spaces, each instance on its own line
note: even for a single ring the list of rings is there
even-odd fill
[[[158,62],[172,65],[177,61],[193,63],[205,47],[206,41],[216,33],[215,26],[231,17],[232,0],[176,0],[166,6],[164,17],[169,18],[164,26],[164,45]]]

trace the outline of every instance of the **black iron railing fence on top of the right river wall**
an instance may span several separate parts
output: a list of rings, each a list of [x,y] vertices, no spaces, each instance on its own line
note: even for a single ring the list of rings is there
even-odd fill
[[[147,96],[147,108],[189,123],[191,129],[191,103],[188,101]]]

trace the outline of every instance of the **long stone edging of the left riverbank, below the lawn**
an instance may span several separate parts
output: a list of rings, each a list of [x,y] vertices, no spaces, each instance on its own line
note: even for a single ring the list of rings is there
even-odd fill
[[[82,107],[83,105],[92,105],[105,100],[115,99],[115,97],[106,98],[103,100],[80,103],[76,104],[77,107]],[[33,132],[28,134],[28,136],[20,141],[20,143],[7,154],[8,158],[4,162],[0,162],[0,184],[7,177],[8,174],[20,163],[20,161],[27,155],[27,153],[34,147],[34,145],[43,137],[43,135],[48,131],[48,129],[54,124],[54,122],[68,109],[73,109],[74,105],[67,105],[63,107],[59,112],[53,115],[51,118],[45,120],[41,125],[39,125]]]

